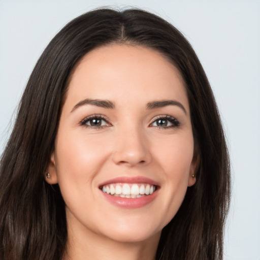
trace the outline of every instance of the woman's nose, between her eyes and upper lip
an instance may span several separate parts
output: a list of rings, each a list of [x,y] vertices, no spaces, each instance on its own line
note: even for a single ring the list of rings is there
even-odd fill
[[[148,138],[138,127],[117,133],[114,145],[113,161],[117,165],[133,167],[151,162]]]

